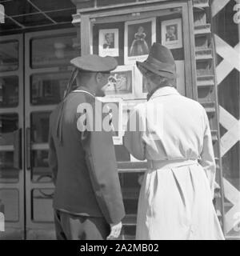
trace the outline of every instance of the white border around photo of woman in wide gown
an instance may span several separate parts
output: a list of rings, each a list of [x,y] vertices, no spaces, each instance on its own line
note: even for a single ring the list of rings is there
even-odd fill
[[[148,54],[141,55],[141,56],[132,56],[132,57],[128,56],[128,26],[134,25],[134,24],[141,24],[145,22],[152,22],[152,44],[156,42],[156,18],[145,18],[141,20],[125,22],[125,27],[124,27],[124,64],[125,65],[135,64],[136,61],[144,62],[148,56]]]

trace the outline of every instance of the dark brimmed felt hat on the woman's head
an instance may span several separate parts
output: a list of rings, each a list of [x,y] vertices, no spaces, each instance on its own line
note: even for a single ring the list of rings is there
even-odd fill
[[[147,71],[151,71],[164,78],[177,78],[173,54],[160,43],[154,42],[146,61],[136,62],[136,64],[138,70],[140,70],[143,75],[145,75]]]

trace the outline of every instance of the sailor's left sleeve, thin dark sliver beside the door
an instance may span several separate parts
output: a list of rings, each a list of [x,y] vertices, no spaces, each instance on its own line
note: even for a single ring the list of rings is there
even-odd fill
[[[48,142],[49,142],[48,163],[50,166],[54,185],[56,185],[56,179],[57,179],[57,174],[58,174],[58,158],[57,158],[56,149],[54,146],[54,139],[52,137],[51,124],[50,124]]]

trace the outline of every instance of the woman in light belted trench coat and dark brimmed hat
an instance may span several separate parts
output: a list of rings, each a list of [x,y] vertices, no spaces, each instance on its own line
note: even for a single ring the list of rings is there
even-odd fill
[[[138,201],[137,239],[224,239],[214,210],[215,162],[206,111],[174,88],[174,58],[154,43],[146,62],[148,101],[130,115],[124,145],[148,170]],[[137,123],[134,123],[137,120]]]

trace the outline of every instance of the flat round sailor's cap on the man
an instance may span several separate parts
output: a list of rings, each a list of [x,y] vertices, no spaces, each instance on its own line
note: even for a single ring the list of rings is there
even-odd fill
[[[100,57],[94,54],[73,58],[70,63],[80,70],[89,72],[110,72],[118,66],[115,58]]]

